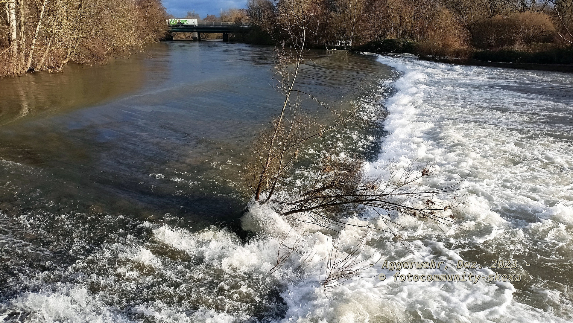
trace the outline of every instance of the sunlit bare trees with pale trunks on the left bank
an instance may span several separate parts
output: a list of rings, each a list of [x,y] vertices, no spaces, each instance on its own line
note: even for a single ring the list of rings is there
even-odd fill
[[[160,0],[0,0],[0,76],[94,64],[164,38]]]

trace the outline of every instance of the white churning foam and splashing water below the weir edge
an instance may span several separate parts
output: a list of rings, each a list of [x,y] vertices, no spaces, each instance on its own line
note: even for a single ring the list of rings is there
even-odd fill
[[[408,247],[390,235],[374,233],[364,249],[365,255],[380,259],[364,272],[371,278],[351,280],[325,293],[319,280],[332,238],[309,225],[291,223],[266,206],[250,204],[243,215],[242,228],[256,233],[246,242],[233,231],[215,226],[191,232],[176,222],[89,214],[65,219],[54,212],[50,226],[64,227],[62,223],[70,221],[72,227],[64,230],[72,236],[74,230],[88,234],[81,225],[90,221],[95,231],[118,229],[105,237],[91,232],[100,239],[97,246],[68,241],[53,248],[15,234],[23,226],[38,227],[37,239],[48,239],[33,215],[14,219],[0,212],[4,228],[0,243],[11,246],[5,257],[11,257],[13,265],[25,252],[53,258],[42,268],[7,278],[7,283],[19,287],[3,295],[0,315],[8,321],[28,322],[572,320],[570,75],[444,65],[411,56],[377,59],[402,74],[395,82],[380,84],[391,84],[394,94],[374,105],[387,110],[383,120],[387,135],[378,159],[367,164],[367,171],[383,174],[392,159],[397,167],[433,161],[437,175],[428,185],[465,179],[463,190],[469,197],[461,211],[462,230],[399,218]],[[338,135],[325,140],[351,143]],[[365,139],[367,134],[350,136],[355,141],[346,147],[352,145],[348,149],[353,151],[372,141]],[[317,143],[312,149],[332,145],[336,142]],[[350,222],[364,224],[359,219]],[[362,228],[347,226],[339,241],[352,246],[362,235]],[[269,274],[281,245],[295,243],[299,253]],[[74,250],[90,248],[93,251],[87,257],[74,256]],[[64,253],[71,260],[58,262],[58,255]],[[516,269],[498,271],[519,273],[523,279],[401,282],[394,281],[394,272],[380,269],[384,261],[453,264],[464,260],[482,268],[452,265],[448,270],[402,269],[401,274],[489,275],[493,259],[516,259]],[[378,273],[388,278],[380,281]]]

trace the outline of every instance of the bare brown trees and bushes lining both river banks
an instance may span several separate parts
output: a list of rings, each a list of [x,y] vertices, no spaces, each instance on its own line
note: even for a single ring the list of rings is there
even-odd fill
[[[255,43],[288,41],[278,21],[285,0],[249,0],[203,21],[250,23],[234,35]],[[573,0],[305,0],[307,46],[409,40],[423,54],[472,49],[539,51],[573,45]],[[193,13],[188,13],[192,18]],[[0,76],[94,64],[164,38],[160,0],[0,0]],[[195,17],[193,15],[193,17]]]

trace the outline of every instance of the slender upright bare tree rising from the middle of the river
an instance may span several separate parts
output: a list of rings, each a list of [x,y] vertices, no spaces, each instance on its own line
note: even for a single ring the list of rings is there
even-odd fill
[[[270,131],[261,133],[256,141],[256,157],[248,166],[247,183],[257,202],[263,192],[266,192],[266,200],[270,199],[278,179],[292,165],[301,145],[324,130],[316,127],[314,120],[301,111],[299,94],[304,92],[295,89],[304,61],[307,26],[312,16],[310,9],[315,1],[285,0],[278,7],[277,25],[288,34],[291,46],[287,50],[283,42],[282,49],[276,50],[277,87],[284,95],[281,112],[273,119]],[[293,99],[293,93],[296,93],[296,99]]]

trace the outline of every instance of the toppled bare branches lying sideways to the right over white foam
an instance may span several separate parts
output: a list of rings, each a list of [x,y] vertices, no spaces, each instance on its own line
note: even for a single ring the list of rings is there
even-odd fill
[[[394,214],[456,223],[458,207],[464,203],[458,193],[460,182],[427,188],[424,179],[434,175],[430,165],[398,169],[390,163],[386,178],[368,176],[363,165],[357,158],[326,157],[315,165],[316,171],[304,174],[303,184],[277,192],[270,202],[284,216],[296,214],[295,220],[332,230],[348,225],[348,216],[372,220]],[[382,219],[386,227],[372,229],[394,233],[390,216]]]

